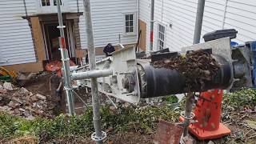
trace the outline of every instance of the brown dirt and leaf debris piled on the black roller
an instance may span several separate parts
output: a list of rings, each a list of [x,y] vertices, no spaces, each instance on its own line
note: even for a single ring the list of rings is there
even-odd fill
[[[156,68],[178,70],[178,73],[186,79],[186,87],[189,90],[194,90],[194,86],[201,86],[203,90],[205,83],[213,80],[219,69],[218,63],[205,50],[190,51],[185,57],[179,55],[151,64]]]

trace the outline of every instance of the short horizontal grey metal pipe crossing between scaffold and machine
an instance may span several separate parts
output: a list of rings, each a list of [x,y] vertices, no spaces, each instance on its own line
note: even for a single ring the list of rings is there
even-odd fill
[[[100,77],[107,77],[113,74],[113,70],[90,70],[81,73],[74,73],[71,74],[72,80],[80,80],[86,78],[100,78]]]

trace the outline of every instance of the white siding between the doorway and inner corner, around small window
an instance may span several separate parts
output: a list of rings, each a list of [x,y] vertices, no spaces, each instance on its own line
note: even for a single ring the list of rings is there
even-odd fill
[[[91,2],[91,13],[94,26],[94,45],[95,47],[104,47],[108,43],[114,46],[118,44],[118,35],[121,36],[123,45],[136,43],[137,34],[125,34],[125,14],[137,14],[136,0],[94,0]],[[82,1],[79,2],[82,4]],[[82,7],[81,7],[82,8]],[[79,9],[83,12],[83,9]],[[136,12],[136,13],[134,13]],[[138,26],[134,24],[134,29]],[[87,47],[86,43],[86,25],[84,16],[80,16],[79,31],[81,46]]]

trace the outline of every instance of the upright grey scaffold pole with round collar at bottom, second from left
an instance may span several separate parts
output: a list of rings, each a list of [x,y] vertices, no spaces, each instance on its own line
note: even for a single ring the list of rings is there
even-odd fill
[[[87,34],[87,46],[89,53],[89,66],[90,70],[95,70],[96,68],[96,59],[95,59],[95,48],[94,48],[94,34],[93,34],[93,25],[91,20],[90,13],[90,0],[83,0],[84,5],[84,14],[86,18],[86,34]],[[98,96],[98,83],[97,78],[91,78],[91,94],[93,101],[93,113],[94,113],[94,129],[95,132],[92,134],[91,138],[97,143],[102,144],[103,134],[106,137],[106,133],[102,132],[102,123],[100,115],[100,101]]]

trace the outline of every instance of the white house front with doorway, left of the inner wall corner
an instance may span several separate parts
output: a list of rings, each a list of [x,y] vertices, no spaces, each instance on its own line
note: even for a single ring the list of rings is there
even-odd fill
[[[91,0],[96,54],[107,43],[125,46],[137,42],[138,0]],[[86,49],[82,0],[62,0],[66,46],[74,61]],[[55,0],[0,1],[0,66],[10,70],[40,71],[60,59]],[[120,37],[119,37],[120,35]]]

